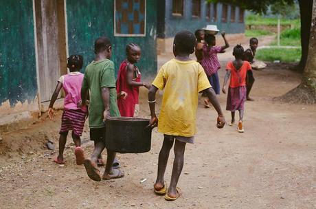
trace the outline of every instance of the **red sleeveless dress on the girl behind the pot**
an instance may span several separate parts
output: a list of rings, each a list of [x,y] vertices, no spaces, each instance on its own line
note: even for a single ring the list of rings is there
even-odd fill
[[[120,65],[119,72],[117,74],[116,91],[117,94],[120,91],[125,91],[128,95],[126,99],[118,98],[117,106],[120,110],[122,117],[133,117],[135,113],[135,104],[138,104],[139,87],[133,87],[127,83],[127,66],[131,65],[128,61],[123,61]],[[135,66],[135,65],[134,65]],[[133,80],[136,82],[141,81],[141,74],[138,68],[134,68]]]

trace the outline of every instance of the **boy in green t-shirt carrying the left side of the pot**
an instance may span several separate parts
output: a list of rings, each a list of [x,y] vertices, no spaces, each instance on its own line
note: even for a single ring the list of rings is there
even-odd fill
[[[90,92],[89,126],[90,138],[94,141],[91,159],[84,159],[84,167],[91,179],[101,181],[101,179],[124,177],[124,173],[112,167],[116,153],[110,150],[107,150],[103,176],[97,166],[98,159],[105,148],[104,121],[109,116],[120,117],[120,111],[117,108],[114,64],[109,60],[112,55],[110,40],[106,37],[95,40],[94,52],[95,59],[86,67],[81,89],[82,100]]]

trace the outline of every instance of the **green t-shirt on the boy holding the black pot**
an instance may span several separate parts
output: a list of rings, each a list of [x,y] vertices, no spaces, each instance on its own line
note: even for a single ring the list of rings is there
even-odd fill
[[[90,90],[89,126],[92,129],[102,128],[104,104],[101,96],[102,87],[110,89],[110,114],[113,117],[120,116],[117,107],[115,89],[114,63],[108,59],[92,61],[84,72],[81,91]]]

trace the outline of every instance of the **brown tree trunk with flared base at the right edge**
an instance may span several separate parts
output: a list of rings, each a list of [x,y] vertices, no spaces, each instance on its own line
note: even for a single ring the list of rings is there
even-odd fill
[[[308,39],[305,39],[309,40],[309,45],[302,83],[295,89],[280,97],[281,100],[286,102],[307,104],[316,103],[316,0],[313,0],[311,8],[311,30],[310,36]]]

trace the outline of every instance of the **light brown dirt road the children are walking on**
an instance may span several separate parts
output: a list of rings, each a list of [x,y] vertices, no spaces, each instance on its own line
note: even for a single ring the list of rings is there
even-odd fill
[[[256,101],[245,104],[245,133],[236,126],[216,129],[216,112],[204,109],[200,99],[199,133],[196,144],[186,147],[179,181],[183,195],[177,201],[153,192],[162,142],[156,130],[150,152],[118,155],[126,177],[95,182],[76,166],[70,138],[65,166],[52,163],[54,154],[36,145],[48,133],[57,142],[58,113],[55,122],[45,119],[3,135],[2,151],[10,144],[21,155],[0,155],[0,208],[316,208],[316,106],[273,102],[300,83],[300,74],[285,67],[268,65],[254,72]],[[223,76],[222,69],[221,82]],[[145,95],[141,109],[148,117]],[[224,109],[225,95],[219,99]],[[225,116],[230,120],[228,111]],[[93,144],[87,133],[83,140],[89,156]],[[173,158],[171,153],[167,181]]]

